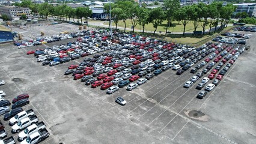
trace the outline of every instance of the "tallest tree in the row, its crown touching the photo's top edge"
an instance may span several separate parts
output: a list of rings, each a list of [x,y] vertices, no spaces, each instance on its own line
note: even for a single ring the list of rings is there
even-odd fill
[[[166,19],[167,25],[165,29],[165,35],[167,34],[167,29],[171,26],[172,20],[174,20],[174,11],[177,11],[180,8],[180,0],[165,0],[163,5],[166,8]]]

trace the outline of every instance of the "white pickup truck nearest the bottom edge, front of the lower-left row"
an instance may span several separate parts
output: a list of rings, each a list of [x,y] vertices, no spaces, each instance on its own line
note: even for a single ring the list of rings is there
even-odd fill
[[[20,144],[34,144],[39,143],[49,137],[50,133],[44,128],[43,130],[39,130],[35,133],[30,134],[28,138],[23,140]]]

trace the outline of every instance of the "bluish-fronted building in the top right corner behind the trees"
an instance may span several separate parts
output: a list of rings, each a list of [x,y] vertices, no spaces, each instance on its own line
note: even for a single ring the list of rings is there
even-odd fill
[[[242,4],[233,4],[235,5],[236,11],[234,11],[234,15],[240,12],[246,12],[249,16],[256,16],[256,3],[242,3]]]

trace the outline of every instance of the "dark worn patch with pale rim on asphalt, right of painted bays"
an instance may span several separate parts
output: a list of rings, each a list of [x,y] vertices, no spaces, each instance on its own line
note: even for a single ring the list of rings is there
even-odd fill
[[[205,113],[198,111],[198,110],[185,110],[184,113],[187,117],[192,119],[197,119],[199,121],[208,121],[209,116],[207,116]]]

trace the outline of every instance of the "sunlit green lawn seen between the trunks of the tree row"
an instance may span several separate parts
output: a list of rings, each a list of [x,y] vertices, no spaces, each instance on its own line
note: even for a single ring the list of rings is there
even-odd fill
[[[162,31],[162,32],[165,32],[165,28],[166,28],[166,20],[162,23],[162,25],[159,25],[157,27],[157,32],[159,31]],[[104,22],[105,25],[109,25],[109,22]],[[115,28],[115,23],[112,22],[112,26],[114,26],[113,28]],[[124,22],[123,21],[119,21],[117,26],[120,26],[120,27],[124,27]],[[132,23],[130,22],[130,20],[126,20],[126,28],[132,28]],[[136,25],[135,26],[135,29],[138,29],[138,30],[141,30],[142,31],[142,26],[140,25]],[[209,26],[206,26],[206,29],[209,29]],[[203,28],[202,26],[199,24],[198,25],[198,28],[197,28],[197,31],[202,31]],[[152,25],[152,23],[149,23],[148,25],[145,25],[145,31],[151,31],[151,32],[154,32],[154,27]],[[171,27],[168,28],[169,32],[183,32],[183,25],[182,23],[178,23],[177,21],[175,22],[172,22],[172,25]],[[186,32],[193,32],[194,31],[194,25],[192,22],[189,22],[187,23],[186,25]]]

